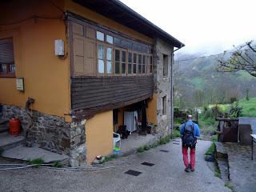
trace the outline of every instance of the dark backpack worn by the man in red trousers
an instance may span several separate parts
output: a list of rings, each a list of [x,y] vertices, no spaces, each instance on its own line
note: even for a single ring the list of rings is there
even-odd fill
[[[197,138],[194,136],[194,122],[192,125],[184,126],[184,134],[182,136],[182,146],[194,148],[197,143]]]

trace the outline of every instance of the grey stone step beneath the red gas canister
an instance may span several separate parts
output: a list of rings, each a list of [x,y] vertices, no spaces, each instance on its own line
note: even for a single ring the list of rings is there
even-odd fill
[[[24,141],[24,137],[21,135],[13,136],[8,132],[0,134],[0,149],[10,150],[16,146],[20,146]]]

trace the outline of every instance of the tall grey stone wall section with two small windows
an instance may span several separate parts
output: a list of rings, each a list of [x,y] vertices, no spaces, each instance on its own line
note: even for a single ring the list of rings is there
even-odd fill
[[[157,38],[154,42],[154,93],[157,94],[157,132],[159,137],[170,134],[172,118],[171,61],[173,46]],[[163,54],[168,55],[168,75],[163,76]],[[162,114],[162,97],[166,96],[166,115]]]

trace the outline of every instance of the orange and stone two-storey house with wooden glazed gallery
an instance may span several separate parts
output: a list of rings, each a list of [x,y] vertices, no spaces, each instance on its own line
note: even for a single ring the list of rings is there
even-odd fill
[[[170,134],[174,47],[182,42],[117,0],[0,2],[0,120],[27,142],[90,163],[113,151],[124,111]]]

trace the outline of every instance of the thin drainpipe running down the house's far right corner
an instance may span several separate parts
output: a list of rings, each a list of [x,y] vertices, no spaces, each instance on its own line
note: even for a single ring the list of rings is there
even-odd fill
[[[182,49],[184,45],[181,45],[180,48],[176,49],[176,50],[180,50]],[[173,128],[174,128],[174,52],[176,50],[173,50],[171,52],[171,67],[170,67],[170,135],[171,137],[173,136]]]

